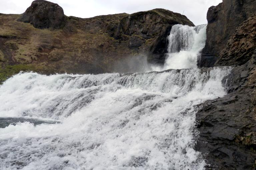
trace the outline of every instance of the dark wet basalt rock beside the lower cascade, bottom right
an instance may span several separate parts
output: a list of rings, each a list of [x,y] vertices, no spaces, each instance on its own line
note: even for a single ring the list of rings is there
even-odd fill
[[[206,169],[254,169],[256,165],[256,50],[234,67],[228,94],[207,101],[196,114],[200,137],[195,149],[210,164]]]

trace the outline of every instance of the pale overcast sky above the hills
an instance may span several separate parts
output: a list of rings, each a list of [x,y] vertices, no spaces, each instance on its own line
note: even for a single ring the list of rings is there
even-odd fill
[[[164,8],[183,13],[195,25],[206,24],[206,13],[210,6],[216,6],[222,0],[50,0],[58,3],[65,15],[89,18],[97,15],[147,11]],[[21,14],[32,0],[0,0],[0,13]]]

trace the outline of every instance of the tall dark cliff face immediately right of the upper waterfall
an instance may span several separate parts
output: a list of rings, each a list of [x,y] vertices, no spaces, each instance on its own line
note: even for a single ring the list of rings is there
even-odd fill
[[[255,13],[256,0],[223,0],[207,12],[207,40],[199,66],[213,66],[235,29]]]

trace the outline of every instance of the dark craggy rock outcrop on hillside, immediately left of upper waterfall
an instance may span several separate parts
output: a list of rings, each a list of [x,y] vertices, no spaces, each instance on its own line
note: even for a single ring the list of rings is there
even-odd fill
[[[154,9],[131,14],[121,20],[121,34],[137,35],[145,41],[155,38],[150,47],[149,61],[164,63],[167,52],[166,42],[173,25],[195,26],[186,16],[165,9]],[[140,38],[137,39],[140,42]]]

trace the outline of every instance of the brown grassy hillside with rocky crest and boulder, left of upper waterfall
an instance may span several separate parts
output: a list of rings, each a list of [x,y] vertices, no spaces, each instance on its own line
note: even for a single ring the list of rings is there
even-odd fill
[[[83,19],[36,0],[21,15],[0,14],[0,81],[20,70],[126,72],[121,61],[133,57],[161,64],[175,24],[194,26],[186,16],[165,9]]]

